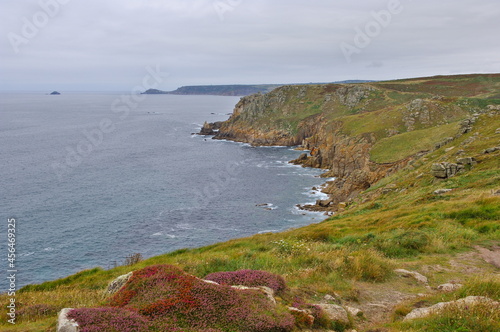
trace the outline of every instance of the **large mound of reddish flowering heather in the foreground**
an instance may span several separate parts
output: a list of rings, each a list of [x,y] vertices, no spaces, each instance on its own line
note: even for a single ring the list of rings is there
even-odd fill
[[[135,271],[109,305],[133,310],[156,326],[199,331],[278,332],[292,330],[295,323],[262,292],[208,283],[170,265]]]

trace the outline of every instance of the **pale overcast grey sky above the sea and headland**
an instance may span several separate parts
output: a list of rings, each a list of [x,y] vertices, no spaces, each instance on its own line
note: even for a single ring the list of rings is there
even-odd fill
[[[499,73],[499,33],[498,0],[0,0],[0,90]]]

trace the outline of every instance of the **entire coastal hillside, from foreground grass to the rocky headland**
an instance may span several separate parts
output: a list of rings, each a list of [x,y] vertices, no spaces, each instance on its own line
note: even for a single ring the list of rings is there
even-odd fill
[[[217,138],[308,149],[297,163],[325,168],[327,176],[337,177],[327,187],[335,195],[317,207],[336,214],[282,233],[182,249],[26,286],[17,292],[18,324],[2,320],[0,329],[54,331],[62,308],[114,305],[141,324],[147,324],[145,315],[156,319],[155,324],[168,319],[170,326],[184,326],[168,331],[498,331],[499,93],[500,75],[495,74],[284,86],[242,98]],[[337,195],[344,195],[343,200],[337,202]],[[189,275],[159,264],[175,265]],[[283,277],[286,287],[281,281],[275,287],[274,307],[262,294],[254,302],[246,298],[233,306],[217,302],[222,291],[212,283],[200,286],[201,279],[195,278],[219,280],[210,274],[220,278],[217,272],[243,269]],[[136,272],[117,296],[110,300],[104,295],[112,280],[131,271]],[[152,295],[144,290],[158,293],[147,278],[156,278],[158,271],[170,273],[161,280],[174,280],[169,294],[184,295],[147,302]],[[267,274],[264,279],[271,288],[269,280],[280,280]],[[192,285],[199,291],[192,293]],[[237,296],[222,289],[224,296]],[[192,297],[201,293],[212,295]],[[468,296],[481,298],[404,320],[419,312],[415,309]],[[0,300],[7,303],[8,297],[1,295]],[[215,311],[196,322],[183,321],[185,315],[194,315],[190,308],[201,300]],[[246,307],[228,314],[231,328],[216,326],[227,319],[221,313],[238,305]],[[290,306],[303,311],[294,312],[293,324],[287,320]],[[334,309],[346,318],[330,319]],[[137,312],[143,316],[136,317]],[[262,317],[266,327],[255,327],[264,326],[258,325]],[[215,327],[197,328],[203,319],[214,319]],[[154,325],[150,330],[167,330],[162,328]]]

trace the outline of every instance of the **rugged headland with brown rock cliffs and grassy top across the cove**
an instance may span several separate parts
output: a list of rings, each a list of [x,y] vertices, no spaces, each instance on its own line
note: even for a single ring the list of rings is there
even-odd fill
[[[475,90],[465,90],[471,84]],[[491,98],[499,84],[500,75],[470,75],[283,86],[242,98],[214,138],[309,150],[293,162],[336,178],[324,189],[330,199],[309,208],[336,210],[415,156],[452,140],[460,121],[483,104],[500,103]],[[455,90],[467,93],[458,97]]]

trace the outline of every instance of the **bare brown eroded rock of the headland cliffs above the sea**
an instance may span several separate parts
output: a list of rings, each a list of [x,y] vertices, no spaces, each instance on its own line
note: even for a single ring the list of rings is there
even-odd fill
[[[351,107],[362,103],[371,88],[355,85],[339,86],[335,89],[334,94],[329,95],[329,102],[336,100],[337,103]],[[408,160],[391,164],[371,162],[370,150],[376,142],[373,134],[363,134],[359,137],[346,135],[342,131],[341,122],[329,122],[322,114],[304,119],[298,124],[296,132],[259,122],[262,117],[265,118],[266,110],[273,112],[269,108],[278,109],[285,115],[291,112],[287,108],[291,106],[287,106],[286,101],[291,96],[297,97],[300,91],[298,87],[283,87],[271,94],[242,98],[231,118],[221,125],[215,138],[253,145],[301,145],[310,150],[310,155],[304,153],[293,163],[305,167],[325,168],[329,170],[326,176],[335,177],[335,180],[322,190],[330,195],[330,199],[316,205],[304,206],[306,209],[318,211],[338,210],[338,203],[349,202],[373,183],[406,165]]]

